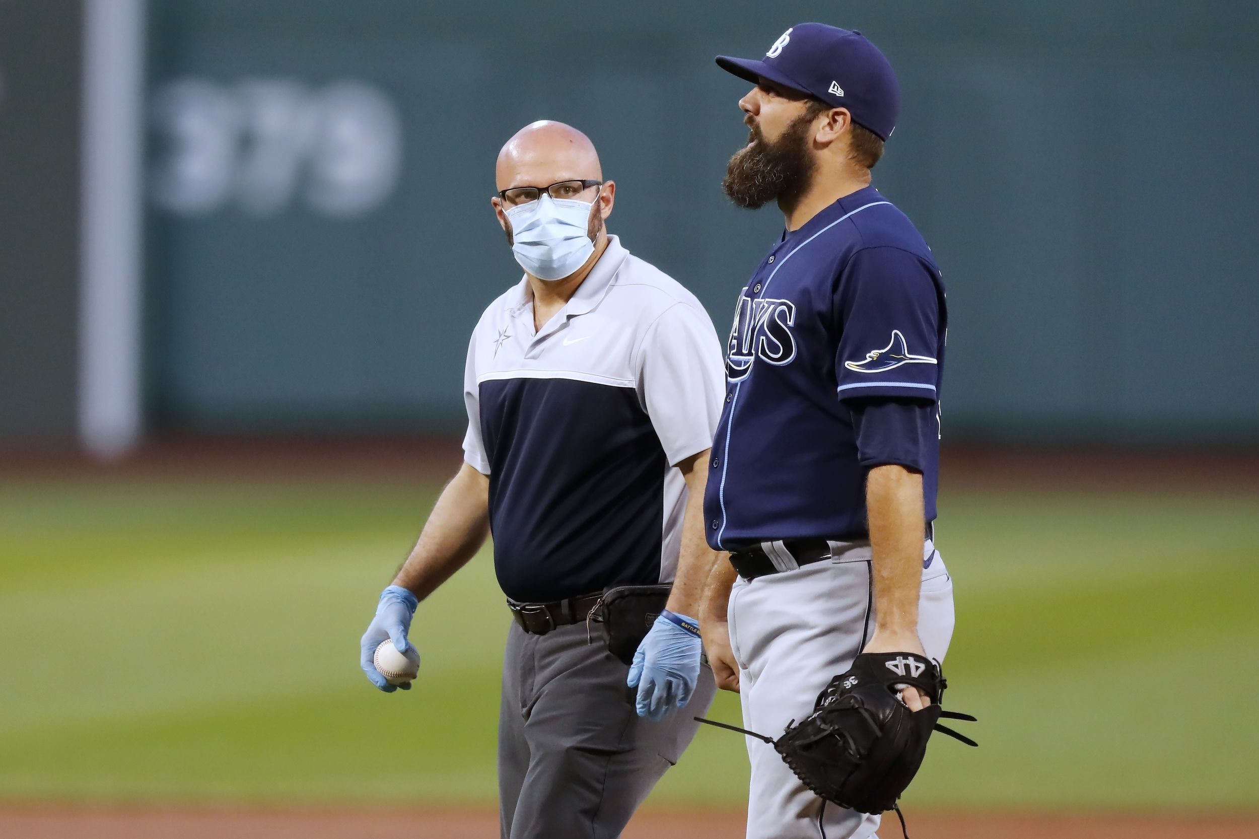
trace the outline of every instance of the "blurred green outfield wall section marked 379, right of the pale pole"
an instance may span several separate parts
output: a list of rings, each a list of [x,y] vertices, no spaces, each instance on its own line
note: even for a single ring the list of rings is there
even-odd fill
[[[816,19],[865,31],[900,76],[875,183],[944,272],[946,441],[1259,442],[1259,5],[151,0],[149,16],[150,428],[457,431],[468,334],[519,276],[494,157],[543,117],[593,137],[619,188],[611,229],[724,334],[781,219],[721,195],[745,86],[711,58]],[[34,280],[0,277],[6,297],[14,282]]]

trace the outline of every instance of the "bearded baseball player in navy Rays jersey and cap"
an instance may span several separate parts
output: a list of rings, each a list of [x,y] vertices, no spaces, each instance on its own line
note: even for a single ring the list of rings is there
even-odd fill
[[[716,63],[754,86],[725,191],[749,209],[776,202],[786,229],[744,286],[726,348],[704,510],[730,563],[701,607],[708,656],[755,732],[808,717],[859,654],[861,673],[875,668],[919,712],[939,695],[925,678],[953,632],[933,543],[946,307],[927,243],[871,185],[896,77],[861,33],[816,23],[762,59]],[[749,838],[875,835],[878,813],[820,797],[772,745],[749,737],[748,755]]]

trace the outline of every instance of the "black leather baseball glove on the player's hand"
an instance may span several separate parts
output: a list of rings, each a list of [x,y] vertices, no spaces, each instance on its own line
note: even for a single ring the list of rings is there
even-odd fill
[[[919,688],[932,704],[910,711],[898,695],[903,685]],[[782,737],[744,733],[772,743],[805,786],[827,801],[861,813],[894,810],[922,766],[932,731],[977,745],[939,724],[942,717],[974,721],[940,709],[944,685],[939,665],[920,655],[862,654],[818,694],[813,713]]]

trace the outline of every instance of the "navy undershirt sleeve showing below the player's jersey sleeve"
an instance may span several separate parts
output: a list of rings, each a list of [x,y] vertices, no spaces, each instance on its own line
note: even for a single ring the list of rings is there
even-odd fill
[[[939,433],[934,403],[885,397],[854,399],[849,406],[861,466],[870,470],[896,464],[915,472],[924,470]]]

